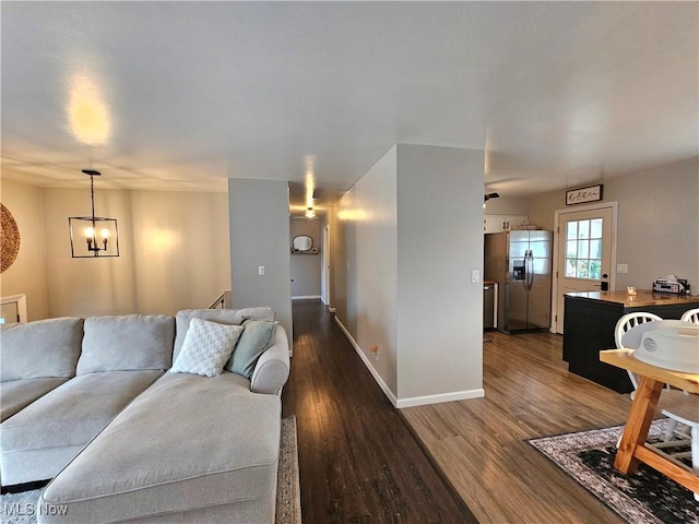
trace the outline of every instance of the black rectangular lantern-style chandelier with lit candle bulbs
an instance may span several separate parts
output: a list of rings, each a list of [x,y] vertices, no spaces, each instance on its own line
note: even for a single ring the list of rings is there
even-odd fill
[[[83,169],[90,177],[91,216],[70,216],[70,251],[73,259],[94,257],[119,257],[119,231],[116,218],[95,216],[95,181],[102,174],[94,169]],[[82,241],[79,241],[82,240]]]

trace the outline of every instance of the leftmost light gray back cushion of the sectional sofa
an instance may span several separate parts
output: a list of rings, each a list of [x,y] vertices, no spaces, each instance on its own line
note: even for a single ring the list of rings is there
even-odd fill
[[[75,376],[83,319],[1,324],[0,330],[0,381]]]

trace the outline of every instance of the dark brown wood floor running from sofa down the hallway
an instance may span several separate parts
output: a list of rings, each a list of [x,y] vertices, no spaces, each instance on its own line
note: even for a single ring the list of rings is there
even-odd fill
[[[296,415],[305,523],[476,522],[320,301],[294,301],[282,402]]]

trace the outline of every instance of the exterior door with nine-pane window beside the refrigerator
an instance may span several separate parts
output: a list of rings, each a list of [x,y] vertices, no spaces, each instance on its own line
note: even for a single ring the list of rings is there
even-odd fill
[[[612,286],[612,259],[616,235],[613,206],[558,214],[555,278],[556,333],[564,332],[564,295],[599,291]],[[609,287],[612,288],[612,287]]]

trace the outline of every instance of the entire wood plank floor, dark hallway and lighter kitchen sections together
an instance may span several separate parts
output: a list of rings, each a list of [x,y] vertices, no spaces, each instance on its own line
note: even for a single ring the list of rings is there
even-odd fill
[[[525,439],[623,424],[628,395],[569,373],[561,336],[486,336],[485,398],[398,410],[320,302],[294,302],[304,522],[621,522]]]

